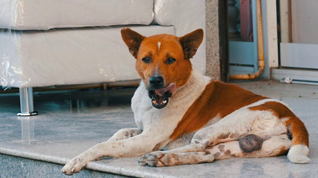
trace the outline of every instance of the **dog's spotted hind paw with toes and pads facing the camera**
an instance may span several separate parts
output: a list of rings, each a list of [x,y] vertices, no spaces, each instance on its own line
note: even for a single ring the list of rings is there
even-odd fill
[[[164,167],[165,165],[160,161],[163,156],[164,153],[160,151],[147,153],[138,159],[138,163],[140,166]]]

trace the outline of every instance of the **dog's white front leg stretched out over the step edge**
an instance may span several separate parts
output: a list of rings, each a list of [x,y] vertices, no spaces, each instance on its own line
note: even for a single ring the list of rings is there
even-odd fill
[[[149,132],[143,132],[123,140],[98,143],[69,161],[63,167],[62,172],[66,175],[79,173],[88,162],[99,160],[103,157],[141,156],[153,151],[162,141],[162,137],[158,138]]]

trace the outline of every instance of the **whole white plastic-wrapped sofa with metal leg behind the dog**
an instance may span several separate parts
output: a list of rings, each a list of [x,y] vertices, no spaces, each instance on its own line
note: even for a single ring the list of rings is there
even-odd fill
[[[0,12],[1,86],[20,88],[20,115],[36,114],[33,87],[140,79],[124,27],[145,36],[205,30],[205,0],[0,0]],[[202,73],[205,48],[204,39],[192,59]]]

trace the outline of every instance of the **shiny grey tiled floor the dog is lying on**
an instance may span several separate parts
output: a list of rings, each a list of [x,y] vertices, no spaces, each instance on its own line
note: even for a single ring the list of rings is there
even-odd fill
[[[286,102],[310,133],[306,165],[290,163],[286,156],[229,159],[166,168],[140,167],[137,158],[104,159],[88,164],[97,171],[137,177],[275,177],[318,175],[318,87],[276,82],[237,83],[255,93]],[[135,127],[130,98],[134,88],[41,92],[34,96],[38,116],[17,117],[17,94],[0,95],[0,153],[65,164],[90,146],[107,140],[121,128]],[[56,172],[56,175],[61,174]],[[81,173],[79,173],[81,174]]]

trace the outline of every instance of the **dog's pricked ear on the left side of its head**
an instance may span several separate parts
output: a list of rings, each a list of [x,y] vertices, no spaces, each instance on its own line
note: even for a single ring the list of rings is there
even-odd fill
[[[129,52],[137,59],[139,46],[145,37],[130,28],[121,29],[120,33],[121,38],[128,46]]]

